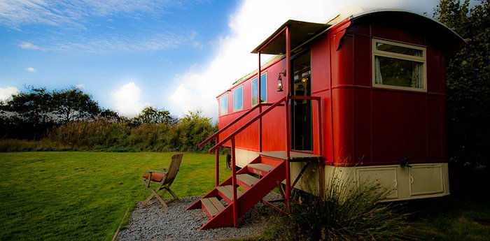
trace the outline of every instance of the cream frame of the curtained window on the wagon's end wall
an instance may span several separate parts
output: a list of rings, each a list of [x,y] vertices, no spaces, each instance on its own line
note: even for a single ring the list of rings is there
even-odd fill
[[[376,45],[377,43],[384,43],[388,45],[395,45],[395,46],[400,46],[403,48],[411,48],[414,50],[421,50],[422,51],[422,56],[414,56],[414,55],[408,55],[408,54],[398,54],[394,52],[387,52],[383,50],[377,50]],[[385,88],[385,89],[403,89],[403,90],[410,90],[410,91],[416,91],[416,92],[427,92],[427,51],[426,48],[416,46],[416,45],[409,45],[405,43],[397,43],[393,41],[385,41],[377,38],[372,38],[372,87],[379,87],[379,88]],[[416,61],[422,64],[422,88],[415,88],[415,87],[402,87],[402,86],[396,86],[396,85],[383,85],[383,84],[377,84],[376,83],[376,66],[375,66],[375,57],[376,56],[381,56],[381,57],[388,57],[388,58],[393,58],[393,59],[402,59],[402,60],[408,60],[408,61]]]

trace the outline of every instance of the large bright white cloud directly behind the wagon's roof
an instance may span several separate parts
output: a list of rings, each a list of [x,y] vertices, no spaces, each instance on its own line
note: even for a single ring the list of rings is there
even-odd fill
[[[201,108],[217,117],[216,96],[256,68],[257,57],[250,54],[272,32],[289,19],[325,22],[349,6],[364,8],[402,8],[416,13],[432,13],[437,0],[245,0],[229,18],[229,33],[216,41],[216,56],[201,68],[190,68],[176,75],[176,89],[169,96],[177,115]],[[274,9],[274,10],[271,10]],[[264,61],[262,61],[263,63]]]

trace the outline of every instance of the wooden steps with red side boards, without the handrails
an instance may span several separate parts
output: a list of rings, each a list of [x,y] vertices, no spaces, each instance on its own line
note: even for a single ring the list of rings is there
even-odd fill
[[[230,177],[186,210],[202,208],[206,212],[209,221],[200,229],[237,226],[239,217],[286,179],[285,170],[286,160],[258,156],[237,171],[235,186],[242,187],[245,191],[242,193],[236,190],[236,200],[233,198],[233,180]],[[269,204],[265,200],[264,202]],[[238,216],[235,217],[234,213]]]

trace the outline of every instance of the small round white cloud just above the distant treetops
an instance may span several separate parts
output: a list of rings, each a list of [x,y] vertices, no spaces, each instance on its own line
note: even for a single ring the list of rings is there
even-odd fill
[[[149,105],[141,101],[141,89],[134,82],[128,82],[123,85],[115,92],[112,92],[111,96],[116,111],[126,117],[138,115],[145,106]]]

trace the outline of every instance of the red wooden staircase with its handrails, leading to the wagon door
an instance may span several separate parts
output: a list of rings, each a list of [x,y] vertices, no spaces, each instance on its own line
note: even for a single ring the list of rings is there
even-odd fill
[[[266,115],[274,108],[284,107],[286,116],[288,116],[289,101],[290,99],[309,99],[318,102],[318,113],[321,110],[321,98],[319,96],[283,96],[275,103],[258,103],[250,110],[247,110],[237,119],[233,120],[220,130],[218,130],[213,135],[209,136],[206,140],[200,143],[199,147],[202,147],[210,140],[216,139],[216,145],[209,149],[209,153],[216,152],[216,187],[203,196],[200,200],[197,200],[193,205],[190,205],[186,210],[193,210],[202,208],[204,212],[209,217],[209,221],[204,224],[200,229],[209,228],[220,228],[226,226],[239,226],[239,218],[242,217],[248,210],[250,210],[253,205],[262,201],[279,212],[283,210],[279,209],[269,203],[263,198],[275,187],[279,187],[281,191],[281,196],[283,198],[284,204],[286,205],[286,210],[289,210],[290,193],[292,187],[295,186],[297,179],[291,185],[290,180],[290,161],[298,161],[304,159],[316,159],[321,160],[321,156],[314,156],[311,154],[298,154],[290,152],[290,124],[286,118],[286,138],[285,140],[285,151],[269,152],[265,154],[262,152],[262,147],[259,148],[260,155],[248,163],[247,166],[236,170],[236,156],[235,156],[235,136],[248,126],[258,121],[262,116]],[[266,107],[264,110],[260,108]],[[253,115],[255,110],[259,109],[258,115]],[[250,116],[249,116],[250,115]],[[253,115],[253,116],[252,116]],[[229,129],[231,126],[235,126],[239,120],[244,117],[250,117],[248,122],[238,126],[235,131],[225,136],[223,139],[220,138],[220,134],[223,131]],[[321,133],[321,115],[318,115],[318,130]],[[260,136],[261,138],[261,136]],[[319,153],[321,153],[321,134],[318,138],[319,141]],[[225,180],[225,182],[219,183],[219,148],[227,143],[231,144],[232,153],[232,176]],[[261,144],[260,144],[261,146]],[[300,177],[304,172],[305,168],[301,170]],[[323,173],[323,169],[321,171]],[[285,180],[286,189],[282,189],[281,183]],[[242,191],[238,190],[241,187]]]

